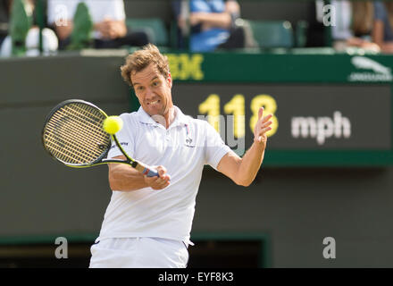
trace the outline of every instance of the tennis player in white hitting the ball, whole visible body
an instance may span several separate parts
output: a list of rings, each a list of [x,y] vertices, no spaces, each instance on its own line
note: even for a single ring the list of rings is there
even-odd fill
[[[159,176],[109,164],[113,193],[91,247],[90,267],[186,267],[204,165],[247,187],[262,164],[272,115],[259,110],[254,143],[240,158],[209,123],[173,105],[168,60],[156,46],[129,55],[121,75],[141,106],[138,112],[121,114],[124,125],[116,135],[130,156],[155,166]],[[114,145],[108,157],[125,159]]]

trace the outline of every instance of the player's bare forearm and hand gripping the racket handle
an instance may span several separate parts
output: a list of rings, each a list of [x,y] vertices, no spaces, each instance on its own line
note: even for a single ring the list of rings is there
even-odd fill
[[[125,160],[125,156],[115,156],[114,159]],[[150,187],[152,189],[163,189],[169,186],[170,176],[166,174],[163,166],[156,169],[160,177],[147,177],[138,172],[128,164],[108,164],[109,186],[112,190],[132,191]]]

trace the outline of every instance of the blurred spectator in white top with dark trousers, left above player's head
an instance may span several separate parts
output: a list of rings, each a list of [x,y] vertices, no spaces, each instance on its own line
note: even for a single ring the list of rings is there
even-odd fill
[[[146,32],[127,29],[123,0],[48,0],[48,23],[54,27],[61,49],[70,44],[73,16],[80,2],[88,6],[94,23],[95,48],[144,46],[149,42]]]

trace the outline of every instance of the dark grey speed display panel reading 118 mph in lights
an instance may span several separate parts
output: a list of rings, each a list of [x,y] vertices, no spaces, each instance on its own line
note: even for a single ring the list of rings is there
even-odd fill
[[[180,83],[175,105],[219,131],[239,155],[251,146],[258,109],[272,114],[271,150],[387,151],[391,91],[381,85]]]

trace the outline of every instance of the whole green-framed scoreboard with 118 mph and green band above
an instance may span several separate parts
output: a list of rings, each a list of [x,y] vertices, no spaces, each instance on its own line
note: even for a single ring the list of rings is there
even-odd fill
[[[210,122],[239,156],[263,106],[273,115],[265,164],[393,162],[390,57],[230,55],[168,57],[174,104]]]

